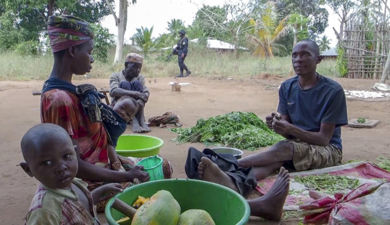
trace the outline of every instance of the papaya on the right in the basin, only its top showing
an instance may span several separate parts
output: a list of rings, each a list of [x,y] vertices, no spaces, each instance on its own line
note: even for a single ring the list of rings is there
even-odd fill
[[[177,225],[215,225],[211,215],[202,209],[189,209],[183,212]]]

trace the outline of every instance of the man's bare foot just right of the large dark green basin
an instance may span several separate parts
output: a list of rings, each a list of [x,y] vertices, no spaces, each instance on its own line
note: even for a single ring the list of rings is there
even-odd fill
[[[288,177],[288,171],[284,167],[281,167],[270,191],[260,198],[248,200],[250,215],[271,220],[280,220],[290,185],[290,179]]]

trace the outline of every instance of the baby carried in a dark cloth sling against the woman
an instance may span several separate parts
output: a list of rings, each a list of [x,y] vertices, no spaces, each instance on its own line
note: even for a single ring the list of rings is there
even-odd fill
[[[115,147],[118,142],[118,138],[126,130],[126,126],[132,121],[133,117],[137,114],[137,101],[128,96],[122,96],[117,101],[113,102],[110,107],[115,111],[117,115],[117,124],[103,122],[106,130],[109,133],[111,142],[107,146],[108,158],[110,160],[111,169],[119,170],[120,162],[118,155],[115,152]],[[118,118],[119,116],[119,118]]]

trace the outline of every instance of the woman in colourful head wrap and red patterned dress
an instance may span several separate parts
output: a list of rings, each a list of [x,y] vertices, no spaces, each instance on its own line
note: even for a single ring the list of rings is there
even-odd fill
[[[135,178],[141,182],[149,180],[143,167],[136,166],[136,159],[119,159],[125,172],[110,169],[107,154],[110,137],[102,123],[107,111],[101,112],[99,94],[92,85],[72,84],[73,74],[89,72],[94,61],[91,55],[94,34],[89,24],[76,17],[50,16],[48,33],[54,65],[42,91],[41,121],[57,124],[71,136],[78,157],[77,177],[93,181],[88,182],[89,190],[108,182],[121,182],[126,187]],[[96,105],[99,107],[93,109]],[[172,171],[166,172],[165,177],[170,177]]]

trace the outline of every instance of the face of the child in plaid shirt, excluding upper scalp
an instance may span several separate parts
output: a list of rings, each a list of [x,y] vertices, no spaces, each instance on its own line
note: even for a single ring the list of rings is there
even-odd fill
[[[57,135],[53,135],[57,136]],[[31,149],[22,168],[50,189],[70,189],[78,170],[75,147],[70,138],[52,137]]]

